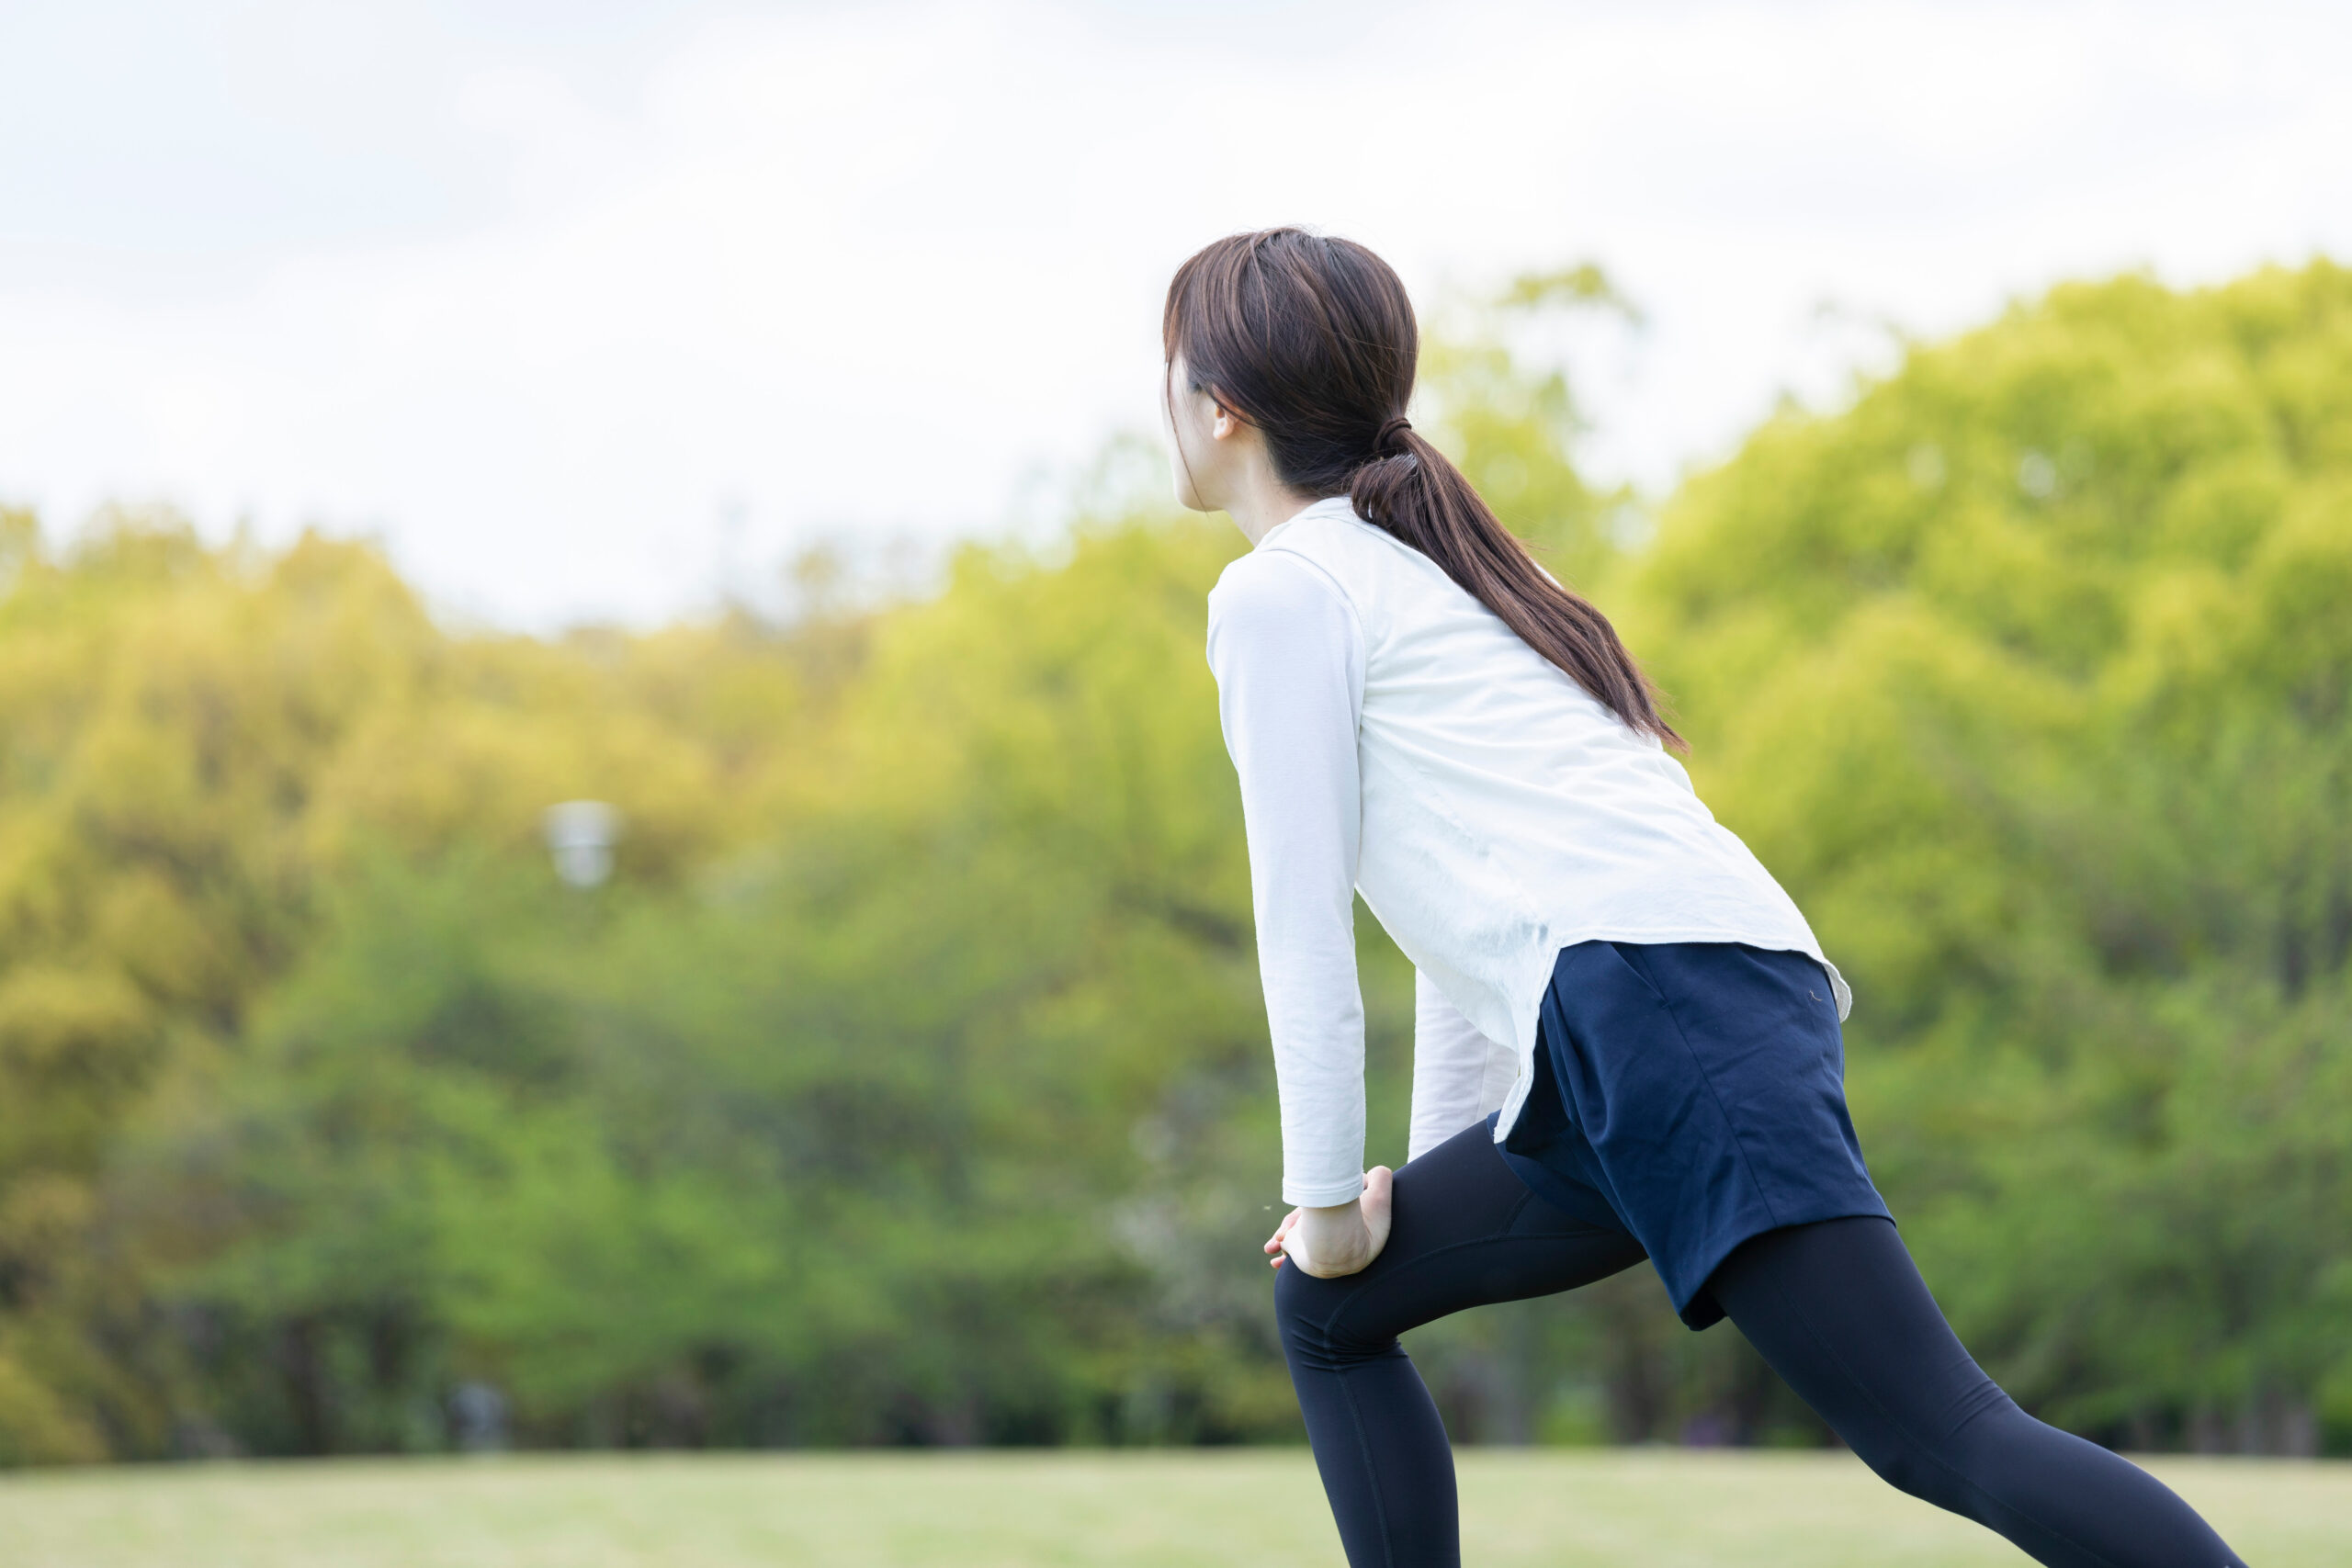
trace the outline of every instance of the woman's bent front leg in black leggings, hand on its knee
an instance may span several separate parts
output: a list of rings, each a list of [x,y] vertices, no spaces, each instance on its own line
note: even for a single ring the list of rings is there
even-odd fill
[[[1397,1335],[1642,1262],[1642,1244],[1531,1194],[1472,1126],[1397,1171],[1388,1246],[1362,1274],[1275,1279],[1282,1352],[1355,1568],[1461,1563],[1454,1450]]]

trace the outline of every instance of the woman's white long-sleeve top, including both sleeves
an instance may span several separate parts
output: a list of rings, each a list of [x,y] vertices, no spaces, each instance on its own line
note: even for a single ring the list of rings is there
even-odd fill
[[[1804,914],[1656,736],[1345,496],[1225,567],[1209,668],[1242,778],[1287,1204],[1343,1204],[1364,1185],[1355,893],[1418,971],[1414,1157],[1491,1110],[1496,1140],[1510,1131],[1571,943],[1820,959]],[[1846,983],[1823,969],[1844,1018]]]

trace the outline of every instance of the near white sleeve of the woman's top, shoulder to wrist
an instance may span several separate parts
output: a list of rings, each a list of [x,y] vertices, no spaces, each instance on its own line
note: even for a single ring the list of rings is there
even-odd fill
[[[1258,550],[1209,595],[1209,668],[1242,776],[1258,980],[1282,1093],[1282,1201],[1364,1190],[1364,999],[1355,863],[1364,632],[1317,567]]]

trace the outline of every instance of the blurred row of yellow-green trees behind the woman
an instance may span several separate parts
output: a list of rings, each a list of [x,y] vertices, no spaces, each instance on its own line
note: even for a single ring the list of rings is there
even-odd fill
[[[1611,301],[1524,280],[1416,414],[1853,980],[1962,1333],[2105,1441],[2352,1450],[2352,273],[2058,289],[1649,538],[1541,353]],[[1202,661],[1242,541],[1129,458],[920,602],[656,635],[0,515],[0,1462],[1296,1434]],[[581,797],[597,889],[539,842]],[[1823,1436],[1646,1269],[1414,1349],[1461,1436]]]

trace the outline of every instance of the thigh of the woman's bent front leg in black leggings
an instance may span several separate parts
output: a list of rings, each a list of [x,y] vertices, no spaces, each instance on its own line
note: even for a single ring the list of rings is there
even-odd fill
[[[1628,1232],[1538,1199],[1512,1175],[1486,1124],[1397,1171],[1388,1246],[1371,1267],[1315,1279],[1284,1262],[1284,1335],[1369,1354],[1465,1307],[1555,1295],[1642,1262]]]

